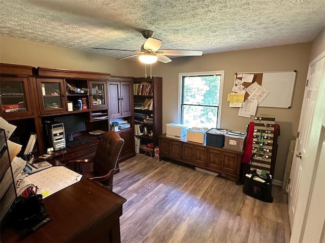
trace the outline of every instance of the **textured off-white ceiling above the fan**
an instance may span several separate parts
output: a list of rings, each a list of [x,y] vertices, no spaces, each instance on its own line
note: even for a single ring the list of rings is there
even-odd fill
[[[0,35],[116,58],[140,50],[142,30],[161,49],[203,54],[311,42],[325,0],[0,0]]]

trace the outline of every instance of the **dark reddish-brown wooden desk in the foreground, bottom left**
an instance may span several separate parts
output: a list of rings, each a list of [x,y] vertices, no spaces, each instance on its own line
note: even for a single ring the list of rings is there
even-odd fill
[[[126,199],[85,178],[43,200],[51,221],[24,239],[2,227],[1,242],[120,242]]]

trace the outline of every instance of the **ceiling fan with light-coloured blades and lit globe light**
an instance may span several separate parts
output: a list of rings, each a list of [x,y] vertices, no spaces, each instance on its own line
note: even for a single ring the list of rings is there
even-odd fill
[[[113,51],[127,51],[127,52],[135,52],[136,54],[119,58],[117,60],[127,59],[139,56],[141,62],[145,64],[151,64],[156,61],[168,63],[172,60],[166,56],[202,56],[202,51],[193,51],[193,50],[172,50],[172,49],[161,49],[159,50],[163,41],[160,39],[153,38],[154,32],[151,30],[145,30],[141,32],[143,37],[147,40],[141,46],[140,51],[134,50],[121,50],[121,49],[109,49],[109,48],[96,48],[92,47],[92,49],[100,49],[100,50],[113,50]]]

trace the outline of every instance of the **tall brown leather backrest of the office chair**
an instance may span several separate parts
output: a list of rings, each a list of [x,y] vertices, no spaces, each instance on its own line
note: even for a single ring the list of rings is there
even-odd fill
[[[123,144],[124,140],[114,131],[108,131],[102,135],[94,157],[93,172],[95,176],[104,176],[111,169],[115,169]],[[113,177],[102,181],[102,183],[112,185]]]

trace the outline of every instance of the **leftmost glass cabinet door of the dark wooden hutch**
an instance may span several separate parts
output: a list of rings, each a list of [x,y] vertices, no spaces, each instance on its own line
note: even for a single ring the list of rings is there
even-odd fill
[[[5,117],[31,115],[27,77],[1,77],[1,113]]]

